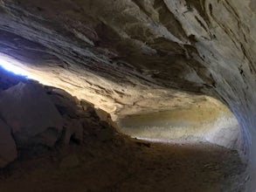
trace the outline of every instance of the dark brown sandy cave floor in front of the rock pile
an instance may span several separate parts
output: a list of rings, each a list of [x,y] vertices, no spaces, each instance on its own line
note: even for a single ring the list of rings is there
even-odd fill
[[[21,156],[1,170],[0,191],[236,192],[244,168],[236,151],[208,143],[107,141]]]

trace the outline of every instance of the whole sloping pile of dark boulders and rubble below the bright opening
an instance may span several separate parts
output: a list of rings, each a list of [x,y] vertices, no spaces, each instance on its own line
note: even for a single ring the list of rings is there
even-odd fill
[[[100,119],[93,104],[1,67],[0,74],[0,171],[13,161],[116,136],[113,122]]]

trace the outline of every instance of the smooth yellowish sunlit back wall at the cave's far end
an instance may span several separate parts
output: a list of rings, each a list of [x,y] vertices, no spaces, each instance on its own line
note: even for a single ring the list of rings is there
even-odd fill
[[[121,133],[145,141],[210,142],[239,149],[239,122],[217,99],[205,96],[190,106],[155,113],[132,114],[118,120]]]

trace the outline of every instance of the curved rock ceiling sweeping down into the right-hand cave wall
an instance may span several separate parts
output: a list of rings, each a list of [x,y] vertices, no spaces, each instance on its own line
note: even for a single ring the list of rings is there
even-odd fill
[[[220,99],[253,181],[255,11],[253,0],[1,0],[0,58],[114,119]]]

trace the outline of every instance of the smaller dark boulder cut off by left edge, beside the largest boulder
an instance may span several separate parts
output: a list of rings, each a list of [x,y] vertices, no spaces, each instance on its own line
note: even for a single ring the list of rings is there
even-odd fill
[[[3,120],[0,120],[0,168],[4,168],[8,163],[17,157],[15,141],[8,127]]]

